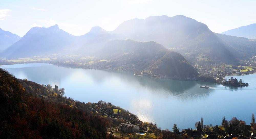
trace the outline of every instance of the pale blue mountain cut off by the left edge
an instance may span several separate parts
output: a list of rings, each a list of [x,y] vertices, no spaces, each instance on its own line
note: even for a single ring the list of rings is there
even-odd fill
[[[20,36],[0,28],[0,52],[16,43],[20,38]]]

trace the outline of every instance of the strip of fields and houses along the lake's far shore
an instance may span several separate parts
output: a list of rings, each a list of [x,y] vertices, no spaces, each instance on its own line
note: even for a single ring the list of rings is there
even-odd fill
[[[65,60],[66,59],[66,60]],[[56,56],[51,57],[30,57],[30,58],[19,58],[14,60],[2,59],[0,60],[2,65],[12,65],[12,64],[25,64],[25,63],[49,63],[63,67],[72,68],[82,68],[82,69],[98,69],[98,70],[116,70],[116,71],[129,71],[134,75],[147,76],[153,78],[169,78],[174,80],[185,80],[185,81],[207,81],[207,82],[217,82],[222,83],[223,79],[227,75],[247,75],[256,73],[256,58],[253,57],[246,62],[241,62],[243,65],[247,66],[235,66],[226,64],[212,64],[199,66],[195,65],[195,69],[198,71],[197,76],[188,76],[185,78],[177,77],[167,77],[162,74],[154,74],[148,71],[141,71],[136,69],[132,64],[122,65],[120,67],[112,67],[107,63],[110,60],[97,59],[92,56],[87,56],[85,58],[80,58],[80,56],[63,56],[62,59],[58,59]],[[223,84],[223,83],[222,83]],[[224,83],[226,84],[226,83]],[[226,84],[227,85],[227,84]],[[229,84],[231,85],[231,84]],[[236,85],[235,85],[236,86]]]

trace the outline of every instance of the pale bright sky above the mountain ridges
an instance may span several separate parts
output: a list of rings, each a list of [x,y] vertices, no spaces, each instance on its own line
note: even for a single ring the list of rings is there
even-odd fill
[[[0,0],[0,28],[24,36],[55,24],[72,35],[94,26],[112,31],[126,20],[184,15],[216,33],[256,23],[255,0]]]

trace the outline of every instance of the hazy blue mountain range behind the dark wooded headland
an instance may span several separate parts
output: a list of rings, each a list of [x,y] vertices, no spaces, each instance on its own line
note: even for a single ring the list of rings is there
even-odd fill
[[[253,39],[214,33],[204,23],[182,15],[163,15],[128,20],[113,31],[95,26],[81,36],[71,35],[58,25],[33,27],[22,39],[6,48],[1,57],[97,56],[112,62],[114,59],[117,67],[130,64],[155,74],[163,74],[164,71],[157,72],[167,68],[174,73],[170,74],[172,76],[177,73],[168,66],[182,67],[185,64],[189,67],[186,59],[192,65],[202,62],[237,64],[254,56],[255,52],[256,41]],[[114,63],[108,64],[113,66]],[[188,75],[192,74],[193,69]]]

